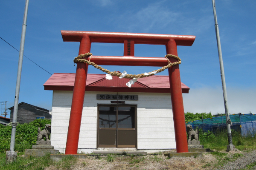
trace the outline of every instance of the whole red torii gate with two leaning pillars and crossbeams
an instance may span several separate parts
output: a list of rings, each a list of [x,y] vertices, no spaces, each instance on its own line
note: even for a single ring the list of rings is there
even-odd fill
[[[92,42],[124,43],[124,56],[93,56],[97,65],[165,66],[166,58],[134,57],[134,44],[166,45],[177,55],[177,45],[191,46],[195,36],[93,31],[61,31],[63,41],[80,42],[79,55],[90,52]],[[129,45],[129,46],[128,46]],[[89,57],[85,58],[88,59]],[[171,62],[177,59],[169,57]],[[77,63],[65,154],[77,154],[88,65]],[[168,68],[177,153],[188,152],[179,65]]]

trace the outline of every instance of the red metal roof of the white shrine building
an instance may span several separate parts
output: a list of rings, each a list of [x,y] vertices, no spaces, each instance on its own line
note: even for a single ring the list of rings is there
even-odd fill
[[[44,90],[73,91],[74,73],[54,73],[44,83]],[[105,79],[106,74],[87,74],[86,91],[170,93],[169,76],[150,76],[138,79],[131,88],[126,86],[129,79]],[[103,88],[104,87],[104,88]],[[189,93],[189,87],[181,83],[182,93]]]

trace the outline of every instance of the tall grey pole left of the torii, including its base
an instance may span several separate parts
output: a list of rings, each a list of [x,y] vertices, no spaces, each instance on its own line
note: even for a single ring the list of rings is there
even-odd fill
[[[17,152],[14,151],[14,145],[15,145],[15,135],[16,135],[16,127],[17,127],[17,113],[18,113],[18,103],[19,103],[19,95],[20,95],[20,78],[21,78],[24,44],[25,44],[26,20],[27,20],[28,8],[29,8],[29,0],[26,0],[22,31],[21,31],[21,40],[20,40],[20,54],[19,54],[17,82],[16,82],[16,91],[15,91],[15,100],[14,100],[14,109],[13,109],[13,118],[12,118],[11,144],[10,144],[10,151],[6,152],[7,163],[12,163],[13,161],[16,161],[16,158],[17,158]]]

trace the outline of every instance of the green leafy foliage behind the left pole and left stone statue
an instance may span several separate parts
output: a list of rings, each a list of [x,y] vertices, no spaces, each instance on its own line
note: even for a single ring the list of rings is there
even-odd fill
[[[15,150],[23,152],[36,144],[38,127],[43,130],[46,124],[51,124],[50,119],[36,119],[30,123],[18,124],[15,135]],[[10,149],[12,124],[6,126],[0,124],[0,153]]]

